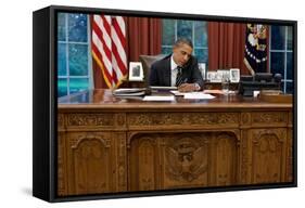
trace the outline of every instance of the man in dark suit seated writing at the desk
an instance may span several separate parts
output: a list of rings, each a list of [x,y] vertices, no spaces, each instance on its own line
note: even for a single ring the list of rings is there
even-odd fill
[[[203,79],[192,51],[193,44],[189,39],[178,39],[171,54],[152,64],[150,86],[178,87],[181,92],[203,89]]]

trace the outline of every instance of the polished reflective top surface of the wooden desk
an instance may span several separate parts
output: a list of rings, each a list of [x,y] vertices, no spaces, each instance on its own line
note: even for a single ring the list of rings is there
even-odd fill
[[[158,92],[152,95],[171,95],[169,92]],[[238,94],[213,94],[212,100],[186,100],[183,96],[175,96],[174,101],[142,101],[143,96],[115,96],[111,90],[89,90],[58,100],[59,109],[66,108],[128,108],[128,109],[177,109],[177,108],[292,108],[292,103],[266,102],[257,98],[244,98]]]

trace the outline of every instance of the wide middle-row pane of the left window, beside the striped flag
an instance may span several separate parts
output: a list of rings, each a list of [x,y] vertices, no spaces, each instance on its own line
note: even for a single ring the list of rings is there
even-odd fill
[[[88,46],[69,44],[68,46],[68,67],[71,76],[88,75]]]

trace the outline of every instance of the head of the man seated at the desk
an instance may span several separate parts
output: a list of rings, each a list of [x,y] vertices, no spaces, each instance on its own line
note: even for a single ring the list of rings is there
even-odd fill
[[[187,38],[178,39],[173,46],[173,58],[178,66],[183,66],[191,57],[193,43]]]

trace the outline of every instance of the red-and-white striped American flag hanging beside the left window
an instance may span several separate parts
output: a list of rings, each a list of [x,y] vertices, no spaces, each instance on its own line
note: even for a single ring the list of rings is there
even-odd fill
[[[122,16],[93,15],[92,56],[110,89],[127,76],[126,29]]]

